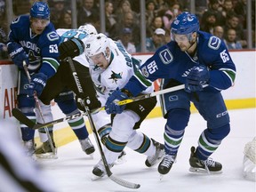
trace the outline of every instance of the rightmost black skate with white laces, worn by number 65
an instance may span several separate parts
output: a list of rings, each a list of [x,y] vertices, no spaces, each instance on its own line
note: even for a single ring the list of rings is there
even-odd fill
[[[191,148],[191,155],[189,158],[189,172],[200,172],[200,173],[221,173],[222,165],[219,162],[215,162],[212,158],[208,158],[205,161],[200,160],[196,157],[196,148]]]

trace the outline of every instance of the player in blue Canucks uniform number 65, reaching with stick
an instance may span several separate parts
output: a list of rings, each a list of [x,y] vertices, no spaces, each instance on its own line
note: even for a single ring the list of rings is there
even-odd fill
[[[228,110],[221,96],[234,84],[236,67],[223,41],[199,30],[196,16],[182,12],[172,22],[172,41],[160,47],[140,66],[140,74],[132,76],[122,90],[108,97],[106,110],[124,110],[114,100],[137,96],[157,78],[161,88],[185,84],[185,89],[161,96],[161,107],[167,122],[164,127],[165,156],[158,172],[168,173],[175,162],[190,116],[190,101],[207,123],[198,146],[191,148],[190,172],[219,173],[222,165],[209,156],[220,146],[230,131]],[[208,85],[204,88],[205,85]]]

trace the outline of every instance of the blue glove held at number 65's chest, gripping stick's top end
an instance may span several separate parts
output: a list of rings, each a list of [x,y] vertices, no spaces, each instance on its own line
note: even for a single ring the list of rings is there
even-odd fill
[[[204,66],[191,68],[185,83],[186,92],[197,92],[203,90],[203,85],[210,79],[210,72]]]

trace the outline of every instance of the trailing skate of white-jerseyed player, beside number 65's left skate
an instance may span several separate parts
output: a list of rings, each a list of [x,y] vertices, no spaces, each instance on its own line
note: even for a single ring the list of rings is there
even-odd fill
[[[151,139],[153,145],[156,146],[156,154],[154,156],[148,156],[145,164],[148,167],[154,166],[157,162],[161,161],[164,156],[164,145],[157,142],[156,140]]]

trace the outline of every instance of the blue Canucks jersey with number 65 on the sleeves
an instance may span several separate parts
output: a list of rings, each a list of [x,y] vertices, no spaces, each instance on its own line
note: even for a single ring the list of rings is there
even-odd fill
[[[220,38],[199,31],[196,49],[196,54],[191,57],[188,52],[181,52],[176,42],[165,44],[140,66],[140,75],[132,76],[124,88],[136,96],[157,78],[174,79],[185,84],[191,68],[199,64],[207,67],[211,75],[210,86],[205,91],[220,92],[234,84],[236,67]]]

